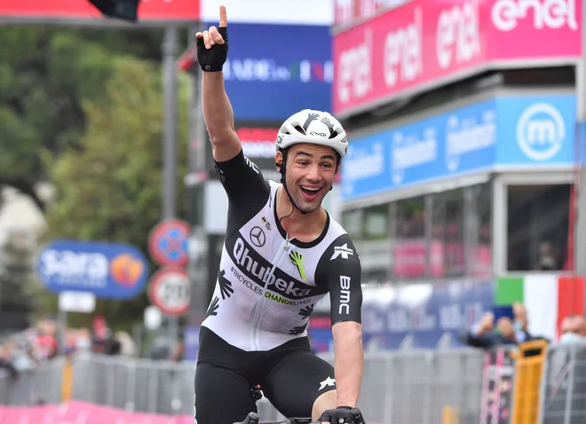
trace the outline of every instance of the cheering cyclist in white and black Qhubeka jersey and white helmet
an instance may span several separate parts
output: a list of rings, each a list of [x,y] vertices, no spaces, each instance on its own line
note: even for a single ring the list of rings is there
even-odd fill
[[[285,416],[358,424],[360,411],[351,410],[363,368],[360,258],[321,206],[347,151],[346,133],[328,113],[293,114],[276,140],[281,184],[265,180],[234,130],[222,74],[226,27],[221,6],[219,28],[196,35],[203,115],[229,207],[218,281],[200,333],[195,419],[244,420],[257,411],[251,387],[260,384]],[[306,331],[313,307],[328,293],[334,366],[313,354]]]

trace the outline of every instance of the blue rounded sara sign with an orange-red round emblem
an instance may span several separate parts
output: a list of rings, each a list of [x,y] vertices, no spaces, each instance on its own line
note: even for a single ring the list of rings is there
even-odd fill
[[[54,293],[130,299],[147,283],[148,262],[139,249],[125,244],[54,240],[37,256],[36,272]]]

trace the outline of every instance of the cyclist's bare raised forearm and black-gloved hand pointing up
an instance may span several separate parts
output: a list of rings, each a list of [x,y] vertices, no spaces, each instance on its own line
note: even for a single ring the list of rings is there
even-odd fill
[[[228,57],[226,7],[220,6],[219,28],[198,32],[197,59],[202,67],[202,108],[214,160],[229,161],[242,150],[234,129],[234,111],[224,86],[222,68]]]

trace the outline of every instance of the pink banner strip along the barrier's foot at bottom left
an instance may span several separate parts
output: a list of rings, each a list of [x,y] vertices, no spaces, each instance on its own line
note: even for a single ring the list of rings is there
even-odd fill
[[[0,406],[0,424],[194,424],[194,417],[126,412],[73,401],[32,407]]]

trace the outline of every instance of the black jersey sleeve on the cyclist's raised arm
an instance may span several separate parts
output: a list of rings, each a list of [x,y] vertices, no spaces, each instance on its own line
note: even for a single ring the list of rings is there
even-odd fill
[[[230,206],[244,212],[265,204],[271,187],[257,165],[244,156],[242,150],[229,161],[214,161],[214,168],[226,190]]]

